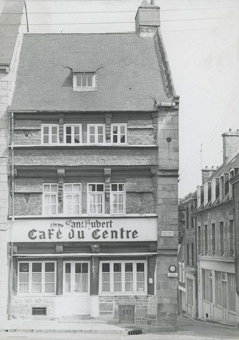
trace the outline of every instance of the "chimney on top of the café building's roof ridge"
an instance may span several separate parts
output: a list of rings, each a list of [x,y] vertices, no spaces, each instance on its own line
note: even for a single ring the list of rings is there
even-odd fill
[[[151,3],[144,0],[138,7],[135,26],[139,36],[152,36],[160,27],[160,7],[154,2],[154,0],[151,0]]]

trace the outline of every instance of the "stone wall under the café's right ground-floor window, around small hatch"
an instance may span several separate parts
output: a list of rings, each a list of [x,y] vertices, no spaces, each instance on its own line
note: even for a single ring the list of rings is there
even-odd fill
[[[135,322],[156,325],[157,296],[99,296],[99,318],[119,320],[119,305],[135,306]]]

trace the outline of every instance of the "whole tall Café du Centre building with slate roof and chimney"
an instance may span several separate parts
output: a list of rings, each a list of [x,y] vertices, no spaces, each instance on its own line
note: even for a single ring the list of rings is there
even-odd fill
[[[23,34],[18,48],[10,318],[173,328],[179,97],[159,7],[143,1],[136,32]]]

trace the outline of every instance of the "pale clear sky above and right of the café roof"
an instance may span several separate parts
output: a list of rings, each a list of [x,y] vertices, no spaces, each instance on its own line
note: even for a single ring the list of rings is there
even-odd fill
[[[29,32],[133,32],[141,2],[26,0]],[[222,133],[239,129],[239,0],[155,4],[160,6],[161,32],[180,96],[182,198],[202,183],[202,167],[222,164]]]

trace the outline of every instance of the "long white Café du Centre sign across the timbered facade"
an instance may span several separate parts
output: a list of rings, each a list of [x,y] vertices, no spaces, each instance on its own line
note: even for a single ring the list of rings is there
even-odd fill
[[[25,219],[8,223],[11,242],[156,241],[157,218]]]

